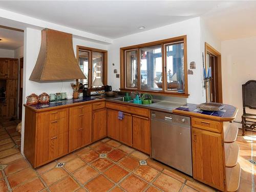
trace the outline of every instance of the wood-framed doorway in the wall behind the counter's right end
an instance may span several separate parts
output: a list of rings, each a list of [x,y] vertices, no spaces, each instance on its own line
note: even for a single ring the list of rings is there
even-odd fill
[[[205,42],[205,69],[211,68],[211,80],[206,83],[206,102],[222,103],[221,54]]]

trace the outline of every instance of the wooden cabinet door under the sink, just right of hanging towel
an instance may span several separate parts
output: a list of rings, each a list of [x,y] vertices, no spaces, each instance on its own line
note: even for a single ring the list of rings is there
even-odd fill
[[[120,139],[119,140],[129,146],[133,146],[132,115],[124,113],[123,119],[119,121],[120,121],[120,136],[119,136]]]

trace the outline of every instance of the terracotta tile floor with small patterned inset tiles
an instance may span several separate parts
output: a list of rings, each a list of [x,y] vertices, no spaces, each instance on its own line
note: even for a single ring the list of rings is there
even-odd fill
[[[9,126],[12,125],[8,122],[0,129],[7,132],[6,127]],[[253,156],[256,133],[247,131],[246,137],[242,137],[241,133],[240,130],[237,139],[241,150],[239,162],[242,167],[239,191],[254,191],[255,165],[247,160],[256,160]],[[4,144],[0,144],[0,148],[1,145]],[[0,155],[2,153],[3,151]],[[100,158],[100,153],[106,154],[106,158]],[[146,160],[147,165],[139,165],[139,160]],[[66,164],[56,168],[58,162]],[[0,170],[1,192],[217,191],[109,138],[83,147],[37,169],[33,169],[18,152],[1,158],[0,163],[5,165],[4,169]]]

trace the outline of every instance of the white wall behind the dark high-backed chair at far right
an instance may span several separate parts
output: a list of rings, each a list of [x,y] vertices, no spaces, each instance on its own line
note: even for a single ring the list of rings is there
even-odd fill
[[[242,84],[256,80],[255,44],[256,36],[221,43],[223,103],[238,107],[237,121],[243,114]]]

